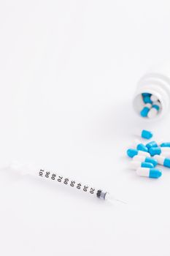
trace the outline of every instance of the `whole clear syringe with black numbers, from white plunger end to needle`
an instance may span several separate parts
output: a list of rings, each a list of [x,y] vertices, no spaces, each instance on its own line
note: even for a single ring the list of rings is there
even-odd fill
[[[48,181],[53,181],[56,184],[63,184],[63,186],[77,189],[77,191],[82,191],[90,196],[99,198],[101,200],[116,200],[120,203],[124,203],[122,200],[118,200],[117,198],[111,196],[109,192],[103,189],[96,189],[95,187],[89,186],[84,182],[75,181],[72,178],[59,174],[57,171],[55,172],[47,170],[45,168],[39,168],[34,165],[23,165],[20,164],[20,162],[12,162],[12,164],[9,165],[9,168],[23,175],[27,174],[31,176],[36,176]]]

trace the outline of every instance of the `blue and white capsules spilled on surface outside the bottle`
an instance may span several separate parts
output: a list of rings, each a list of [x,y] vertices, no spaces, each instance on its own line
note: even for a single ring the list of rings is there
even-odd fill
[[[152,132],[142,130],[141,137],[150,140]],[[142,143],[136,140],[133,148],[128,148],[128,157],[131,157],[130,168],[136,170],[139,176],[149,178],[159,178],[162,175],[157,165],[163,165],[170,168],[170,142],[155,142],[151,140],[148,143]]]

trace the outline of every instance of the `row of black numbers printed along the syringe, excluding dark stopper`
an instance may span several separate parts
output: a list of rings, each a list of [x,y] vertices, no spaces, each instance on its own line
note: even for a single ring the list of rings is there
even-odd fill
[[[42,178],[51,178],[53,181],[58,181],[65,185],[69,185],[70,187],[76,187],[77,189],[81,189],[84,192],[90,192],[90,194],[94,194],[95,190],[93,187],[88,187],[88,185],[82,185],[80,182],[77,183],[74,180],[70,180],[69,178],[63,178],[63,176],[58,176],[56,173],[50,173],[49,171],[39,170],[39,176]],[[62,182],[63,181],[63,182]]]

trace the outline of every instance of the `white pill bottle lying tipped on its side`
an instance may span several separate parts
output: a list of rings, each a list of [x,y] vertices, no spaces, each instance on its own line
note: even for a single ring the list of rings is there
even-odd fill
[[[149,104],[144,102],[144,94],[150,94],[151,99],[156,102]],[[154,104],[159,105],[159,110],[157,109],[155,112],[151,110],[149,112],[154,114],[148,113],[147,116],[142,116],[144,107],[151,109]],[[146,120],[160,118],[170,112],[170,62],[153,67],[139,80],[133,105],[136,113]]]

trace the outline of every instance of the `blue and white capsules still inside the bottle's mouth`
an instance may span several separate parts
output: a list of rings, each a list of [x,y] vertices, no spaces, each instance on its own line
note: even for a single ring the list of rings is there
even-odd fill
[[[161,102],[159,99],[153,94],[144,93],[142,94],[142,100],[144,105],[140,112],[141,116],[146,118],[154,118],[157,116],[161,110]]]

